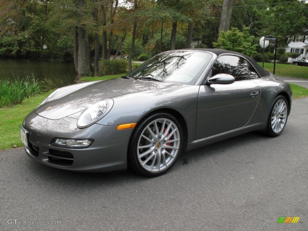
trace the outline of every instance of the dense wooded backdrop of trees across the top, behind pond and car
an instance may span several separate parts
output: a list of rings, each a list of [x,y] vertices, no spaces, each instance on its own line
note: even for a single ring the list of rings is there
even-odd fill
[[[261,51],[261,36],[276,36],[278,47],[285,47],[308,34],[305,0],[234,0],[232,29],[220,33],[223,2],[228,1],[0,0],[0,57],[74,60],[76,72],[85,75],[101,73],[99,59],[121,52],[131,54],[131,62],[198,41],[198,47],[253,55]]]

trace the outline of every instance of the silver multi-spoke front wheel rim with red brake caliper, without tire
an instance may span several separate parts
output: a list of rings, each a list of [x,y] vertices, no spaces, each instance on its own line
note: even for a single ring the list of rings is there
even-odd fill
[[[180,132],[176,124],[160,118],[150,122],[141,132],[137,156],[145,170],[160,172],[173,163],[179,148]]]

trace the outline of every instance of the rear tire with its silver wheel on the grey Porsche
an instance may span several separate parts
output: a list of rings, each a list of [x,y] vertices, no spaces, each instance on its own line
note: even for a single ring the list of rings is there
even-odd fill
[[[285,109],[283,109],[283,111],[279,112],[280,110],[278,110],[277,112],[277,106],[279,103],[282,103],[283,107]],[[279,109],[279,108],[278,108]],[[270,113],[267,119],[267,127],[266,127],[266,131],[265,134],[271,137],[276,137],[279,136],[282,131],[284,130],[284,128],[286,127],[286,123],[288,120],[288,113],[289,113],[289,105],[288,105],[288,101],[286,100],[286,98],[282,95],[278,95],[275,99],[274,102],[272,104],[272,107],[270,109]],[[276,118],[274,118],[274,116]],[[286,117],[286,118],[284,118]],[[273,125],[274,128],[273,128]],[[275,125],[281,125],[281,126],[277,126],[277,129],[275,127]]]

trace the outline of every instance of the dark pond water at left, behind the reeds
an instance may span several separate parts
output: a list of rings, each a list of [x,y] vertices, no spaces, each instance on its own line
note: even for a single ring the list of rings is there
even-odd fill
[[[33,74],[35,79],[44,80],[50,88],[73,84],[77,78],[72,62],[0,59],[0,79],[13,80],[12,73],[19,79]]]

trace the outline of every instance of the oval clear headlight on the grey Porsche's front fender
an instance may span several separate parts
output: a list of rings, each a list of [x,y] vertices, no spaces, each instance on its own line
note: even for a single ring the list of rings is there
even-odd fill
[[[99,101],[85,110],[77,121],[78,128],[86,128],[105,116],[113,106],[112,99]]]

